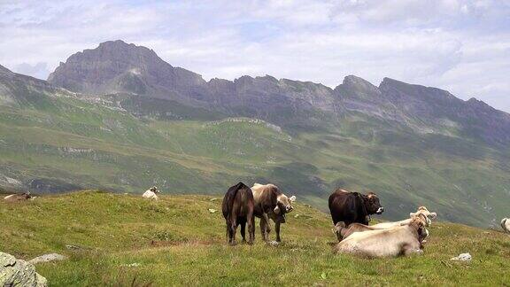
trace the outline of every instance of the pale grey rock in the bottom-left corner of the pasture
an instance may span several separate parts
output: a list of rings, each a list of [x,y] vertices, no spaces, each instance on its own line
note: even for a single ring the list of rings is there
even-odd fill
[[[46,278],[35,272],[33,264],[0,252],[0,285],[42,287],[48,283]]]

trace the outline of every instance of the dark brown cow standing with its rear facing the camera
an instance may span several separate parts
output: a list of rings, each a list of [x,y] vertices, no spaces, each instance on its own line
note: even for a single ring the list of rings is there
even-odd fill
[[[251,189],[243,182],[239,182],[227,190],[221,209],[227,223],[228,244],[236,244],[236,230],[239,225],[241,225],[243,242],[246,242],[246,223],[248,223],[248,244],[253,243],[253,240],[255,240],[254,206]]]

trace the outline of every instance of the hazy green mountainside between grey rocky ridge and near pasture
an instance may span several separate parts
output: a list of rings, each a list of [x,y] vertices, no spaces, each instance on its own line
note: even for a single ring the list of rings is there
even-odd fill
[[[478,226],[507,216],[506,158],[455,138],[359,116],[337,130],[289,135],[247,120],[139,120],[71,97],[34,97],[22,108],[0,106],[0,174],[40,179],[53,192],[60,184],[130,192],[156,184],[218,194],[241,180],[274,182],[322,210],[328,193],[344,187],[377,192],[392,206],[389,219],[419,205]],[[183,119],[200,112],[178,110]]]

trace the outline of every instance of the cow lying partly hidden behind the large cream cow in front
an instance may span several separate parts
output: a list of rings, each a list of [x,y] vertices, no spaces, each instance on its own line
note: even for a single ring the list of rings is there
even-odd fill
[[[336,223],[333,228],[333,233],[335,233],[338,241],[342,241],[344,238],[347,238],[352,235],[354,232],[364,232],[369,230],[382,230],[382,229],[392,229],[398,226],[409,225],[413,218],[420,218],[421,221],[425,222],[425,226],[429,227],[432,224],[431,219],[435,219],[437,217],[437,213],[430,213],[427,207],[420,206],[415,213],[409,213],[410,218],[404,221],[393,221],[393,222],[383,222],[375,225],[364,225],[361,223],[352,223],[349,226],[345,226],[343,221]],[[426,241],[423,241],[425,243]]]

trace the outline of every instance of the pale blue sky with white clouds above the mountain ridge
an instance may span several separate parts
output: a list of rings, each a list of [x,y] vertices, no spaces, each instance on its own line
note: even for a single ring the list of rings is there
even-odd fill
[[[355,74],[476,97],[510,112],[509,0],[0,0],[0,65],[45,79],[122,39],[206,80]]]

